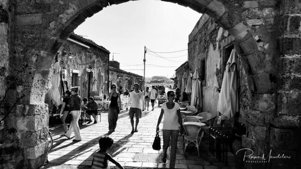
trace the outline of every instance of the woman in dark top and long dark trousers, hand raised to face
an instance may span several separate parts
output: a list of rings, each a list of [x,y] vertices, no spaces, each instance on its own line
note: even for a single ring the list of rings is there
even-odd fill
[[[118,114],[120,111],[120,107],[118,103],[121,103],[120,100],[120,94],[116,90],[116,85],[111,85],[111,93],[109,93],[109,100],[111,101],[110,107],[109,107],[109,113],[108,113],[108,122],[109,122],[109,133],[112,133],[115,131],[117,120],[118,120]]]

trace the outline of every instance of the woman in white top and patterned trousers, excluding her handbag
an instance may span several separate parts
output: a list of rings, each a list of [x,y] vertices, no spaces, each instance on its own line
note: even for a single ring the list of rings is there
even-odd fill
[[[161,106],[161,114],[158,119],[156,132],[159,133],[159,125],[161,123],[163,114],[163,154],[162,154],[162,162],[166,163],[166,152],[167,148],[170,147],[170,164],[169,168],[175,168],[176,163],[176,152],[177,152],[177,142],[178,135],[180,131],[180,135],[183,134],[183,124],[182,117],[180,113],[180,105],[178,103],[173,102],[175,99],[175,92],[168,91],[167,92],[168,102],[165,102]],[[179,127],[180,124],[180,127]]]

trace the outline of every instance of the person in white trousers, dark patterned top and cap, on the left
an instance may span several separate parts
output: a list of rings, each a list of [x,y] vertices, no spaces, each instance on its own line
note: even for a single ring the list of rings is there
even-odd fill
[[[73,141],[81,141],[81,132],[78,126],[78,120],[81,116],[81,104],[82,97],[78,95],[79,87],[71,88],[71,98],[69,100],[69,111],[71,111],[72,119],[70,128],[65,134],[67,138],[70,138],[72,132],[74,131],[75,139]]]

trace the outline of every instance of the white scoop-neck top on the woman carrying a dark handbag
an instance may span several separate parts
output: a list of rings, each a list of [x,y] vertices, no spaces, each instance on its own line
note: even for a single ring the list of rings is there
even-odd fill
[[[162,130],[179,130],[177,110],[180,109],[180,105],[175,103],[175,106],[172,109],[167,109],[165,102],[162,104],[161,108],[164,110]]]

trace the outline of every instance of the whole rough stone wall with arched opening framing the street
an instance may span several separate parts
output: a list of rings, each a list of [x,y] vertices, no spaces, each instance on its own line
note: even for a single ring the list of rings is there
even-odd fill
[[[0,1],[0,96],[5,101],[0,107],[0,118],[5,117],[0,124],[0,168],[38,168],[44,163],[49,117],[41,91],[57,51],[86,18],[127,1]],[[233,36],[243,74],[240,112],[247,125],[243,146],[254,156],[272,149],[274,156],[291,157],[244,166],[300,168],[300,1],[166,1],[208,14]],[[214,42],[211,48],[215,49]]]

